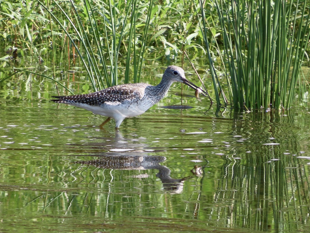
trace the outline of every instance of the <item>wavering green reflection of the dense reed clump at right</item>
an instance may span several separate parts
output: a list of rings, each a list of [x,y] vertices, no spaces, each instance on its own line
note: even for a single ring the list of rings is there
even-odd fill
[[[296,231],[308,221],[308,167],[296,159],[301,151],[298,129],[304,126],[298,126],[292,112],[288,113],[239,112],[233,116],[231,135],[247,140],[232,145],[222,156],[214,202],[219,205],[217,217],[222,213],[227,217],[225,226],[259,231],[273,226],[285,232]],[[234,155],[241,159],[233,159]]]

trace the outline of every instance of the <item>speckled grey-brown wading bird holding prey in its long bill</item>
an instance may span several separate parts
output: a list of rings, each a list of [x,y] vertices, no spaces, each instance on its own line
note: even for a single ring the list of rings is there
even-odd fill
[[[94,114],[108,117],[100,128],[113,118],[117,130],[125,118],[141,115],[164,98],[174,82],[184,83],[195,90],[200,89],[185,78],[181,67],[168,66],[161,82],[156,86],[147,83],[121,84],[89,94],[52,96],[57,99],[51,101],[81,107]],[[207,96],[207,92],[201,91],[202,95]]]

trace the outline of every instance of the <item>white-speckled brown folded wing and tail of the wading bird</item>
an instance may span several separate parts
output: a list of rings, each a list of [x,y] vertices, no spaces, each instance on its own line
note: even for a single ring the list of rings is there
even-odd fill
[[[122,84],[108,87],[101,91],[90,94],[72,95],[72,96],[52,96],[51,101],[56,103],[85,103],[88,105],[101,105],[105,102],[122,103],[126,100],[141,99],[144,96],[146,83]]]

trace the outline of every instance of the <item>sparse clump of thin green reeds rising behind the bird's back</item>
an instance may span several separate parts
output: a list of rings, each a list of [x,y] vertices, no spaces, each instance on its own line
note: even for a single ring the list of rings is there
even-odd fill
[[[132,57],[132,53],[134,54],[137,63],[134,66],[133,80],[135,82],[139,81],[148,38],[148,25],[152,16],[153,1],[146,6],[148,13],[146,26],[139,39],[140,48],[135,43],[136,37],[133,38],[138,27],[136,21],[138,18],[137,12],[141,10],[141,7],[139,7],[140,1],[119,1],[117,3],[109,1],[105,3],[103,1],[84,0],[73,2],[70,0],[69,7],[68,4],[61,4],[55,0],[52,0],[52,2],[53,7],[51,8],[51,4],[46,1],[38,1],[42,8],[49,13],[47,17],[51,17],[56,25],[52,25],[50,20],[53,51],[56,45],[53,40],[52,28],[60,27],[78,53],[94,90],[102,89],[105,85],[117,85],[118,57],[120,54],[126,56],[127,61]],[[145,9],[145,6],[143,7]],[[61,12],[61,15],[58,11]],[[130,21],[127,20],[128,16],[131,18]],[[128,36],[128,31],[130,31],[129,39],[128,37],[124,38]],[[131,47],[132,44],[134,46]],[[64,45],[63,43],[62,48]],[[126,55],[124,55],[124,51],[121,51],[122,45],[128,48],[125,52]],[[53,64],[55,67],[56,62],[53,61]],[[130,62],[126,64],[125,83],[130,80]]]

